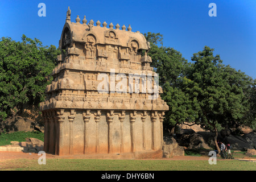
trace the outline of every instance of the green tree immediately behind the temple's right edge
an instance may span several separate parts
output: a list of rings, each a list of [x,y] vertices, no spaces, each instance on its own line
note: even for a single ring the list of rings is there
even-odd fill
[[[162,98],[170,108],[166,111],[164,124],[170,127],[172,134],[177,124],[195,121],[197,116],[196,109],[193,109],[196,103],[185,93],[191,84],[191,80],[185,77],[190,64],[179,51],[163,47],[163,35],[148,32],[144,36],[150,42],[148,55],[152,58],[151,66],[159,75],[159,85],[163,88]]]

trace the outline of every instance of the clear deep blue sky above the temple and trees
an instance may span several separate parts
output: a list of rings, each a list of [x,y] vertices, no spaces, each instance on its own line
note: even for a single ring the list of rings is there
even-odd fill
[[[45,3],[46,17],[38,16],[39,3]],[[217,5],[216,17],[208,15],[210,3]],[[44,46],[58,47],[68,6],[72,22],[77,15],[81,20],[86,15],[88,22],[131,24],[134,32],[160,32],[163,46],[180,51],[187,60],[209,46],[224,64],[256,78],[255,0],[1,0],[0,37],[20,41],[25,34]]]

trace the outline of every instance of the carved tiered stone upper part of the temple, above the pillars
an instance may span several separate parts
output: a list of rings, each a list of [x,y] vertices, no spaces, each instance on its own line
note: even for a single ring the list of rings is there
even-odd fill
[[[47,97],[41,103],[40,109],[120,109],[120,110],[168,110],[168,105],[156,94],[154,99],[150,88],[143,91],[143,79],[156,78],[150,67],[151,57],[147,56],[150,44],[139,31],[132,32],[131,26],[121,28],[113,23],[93,20],[89,22],[76,17],[71,22],[71,10],[67,11],[67,18],[59,41],[61,55],[58,65],[53,69],[53,81],[46,88]],[[113,73],[114,71],[114,73]],[[107,91],[99,93],[102,75],[108,79],[108,84],[101,86]],[[125,92],[114,88],[118,86],[120,75],[127,77]],[[105,74],[105,75],[104,75]],[[129,74],[146,75],[146,77],[132,78]],[[148,75],[150,74],[150,75]],[[114,75],[114,81],[111,76]],[[152,75],[152,77],[150,77]],[[122,76],[121,76],[122,77]],[[137,79],[137,80],[136,80]],[[123,78],[121,79],[123,80]],[[146,82],[145,80],[145,82]],[[135,82],[139,86],[134,86]],[[145,83],[144,82],[144,83]],[[123,89],[124,86],[120,88]],[[131,92],[129,92],[131,89]],[[162,93],[160,86],[157,93]],[[123,90],[124,91],[124,90]],[[155,94],[155,90],[154,90]]]

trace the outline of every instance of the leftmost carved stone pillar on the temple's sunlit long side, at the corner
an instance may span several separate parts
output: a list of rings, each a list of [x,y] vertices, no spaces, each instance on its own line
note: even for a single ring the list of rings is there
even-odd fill
[[[63,155],[63,122],[64,122],[64,109],[58,110],[57,112],[57,121],[59,125],[59,142],[57,146],[57,151],[59,152],[59,155]]]

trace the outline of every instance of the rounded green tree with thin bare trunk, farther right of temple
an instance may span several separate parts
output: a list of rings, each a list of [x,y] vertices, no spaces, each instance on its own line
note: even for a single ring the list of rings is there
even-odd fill
[[[193,55],[188,72],[193,84],[187,93],[199,104],[196,122],[215,133],[214,143],[220,152],[218,131],[245,123],[243,117],[250,108],[247,92],[252,82],[245,73],[222,64],[213,51],[205,46]]]

